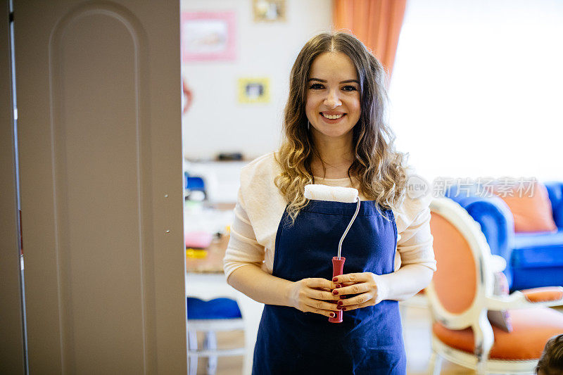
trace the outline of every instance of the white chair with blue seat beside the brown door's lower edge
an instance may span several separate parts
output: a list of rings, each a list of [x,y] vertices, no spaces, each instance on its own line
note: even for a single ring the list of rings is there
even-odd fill
[[[241,310],[236,301],[229,298],[215,298],[204,301],[199,298],[186,298],[188,310],[188,357],[189,374],[196,375],[198,358],[208,357],[207,374],[217,371],[217,357],[245,355],[244,345],[240,348],[218,349],[217,331],[243,330]],[[203,347],[198,348],[197,333],[204,332]]]

